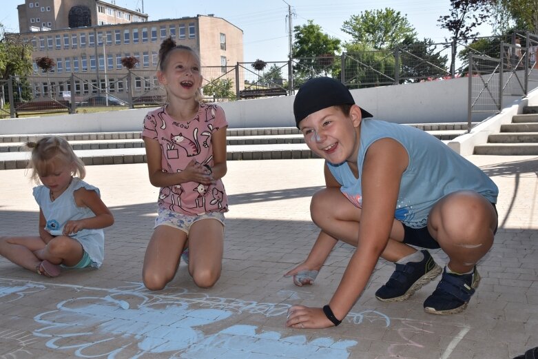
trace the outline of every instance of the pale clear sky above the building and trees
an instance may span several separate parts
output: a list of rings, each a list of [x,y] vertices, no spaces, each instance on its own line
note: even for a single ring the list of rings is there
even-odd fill
[[[0,23],[8,32],[19,32],[17,6],[22,3],[23,0],[1,0]],[[287,60],[288,6],[291,6],[292,29],[313,20],[321,26],[322,32],[341,39],[342,43],[351,39],[340,30],[351,15],[384,8],[393,8],[406,15],[419,39],[428,37],[438,43],[450,37],[437,23],[440,16],[449,14],[449,0],[116,0],[115,3],[124,8],[143,8],[143,12],[149,15],[149,21],[196,17],[197,14],[221,17],[243,31],[245,62]],[[481,36],[491,33],[486,25],[479,30]]]

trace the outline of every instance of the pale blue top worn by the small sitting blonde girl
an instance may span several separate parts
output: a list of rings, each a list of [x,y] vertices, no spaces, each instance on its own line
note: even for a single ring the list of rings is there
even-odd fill
[[[68,220],[79,220],[95,216],[90,208],[79,207],[74,201],[73,192],[81,187],[95,191],[101,196],[99,188],[88,185],[77,177],[73,178],[69,187],[54,201],[50,200],[50,189],[43,185],[34,187],[34,198],[47,221],[45,229],[52,236],[61,236],[63,226]],[[81,243],[92,260],[92,267],[101,267],[105,256],[105,234],[103,229],[82,229],[76,234],[70,235],[70,237]]]

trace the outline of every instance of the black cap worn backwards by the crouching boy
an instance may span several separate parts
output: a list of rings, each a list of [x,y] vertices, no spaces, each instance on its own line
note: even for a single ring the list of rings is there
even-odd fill
[[[355,100],[348,88],[331,77],[315,77],[305,82],[297,92],[293,101],[293,114],[299,128],[300,121],[309,114],[335,105],[355,105]],[[362,118],[373,117],[360,107]]]

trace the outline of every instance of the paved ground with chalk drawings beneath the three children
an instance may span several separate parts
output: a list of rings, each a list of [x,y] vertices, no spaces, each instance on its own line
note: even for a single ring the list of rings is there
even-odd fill
[[[287,309],[326,304],[353,248],[338,245],[314,285],[282,274],[318,232],[309,199],[322,187],[322,160],[230,161],[220,280],[200,289],[182,263],[155,292],[141,284],[158,194],[146,165],[89,166],[87,182],[116,218],[105,263],[45,278],[0,258],[0,358],[513,358],[538,345],[538,157],[468,158],[500,189],[499,232],[468,309],[424,313],[436,283],[405,302],[376,300],[393,271],[380,260],[342,325],[316,330],[285,328]],[[37,234],[32,187],[25,170],[0,171],[0,235]]]

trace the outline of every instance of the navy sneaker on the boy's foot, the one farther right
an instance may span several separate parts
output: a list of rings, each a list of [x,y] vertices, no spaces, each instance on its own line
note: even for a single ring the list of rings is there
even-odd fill
[[[479,282],[480,275],[476,267],[471,274],[447,273],[445,267],[437,288],[424,301],[424,310],[431,314],[456,314],[464,311]]]

